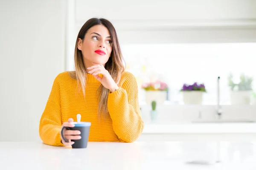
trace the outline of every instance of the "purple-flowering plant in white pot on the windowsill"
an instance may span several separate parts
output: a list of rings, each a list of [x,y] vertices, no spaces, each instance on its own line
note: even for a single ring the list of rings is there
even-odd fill
[[[185,105],[201,105],[203,93],[206,92],[204,84],[195,82],[192,85],[183,84],[180,89],[183,92],[183,103]]]

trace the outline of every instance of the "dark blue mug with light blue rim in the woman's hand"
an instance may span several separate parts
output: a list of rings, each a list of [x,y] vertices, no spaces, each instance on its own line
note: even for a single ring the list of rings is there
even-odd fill
[[[80,136],[81,139],[78,140],[71,140],[72,142],[75,142],[72,144],[72,148],[86,148],[89,138],[89,132],[90,132],[90,126],[91,122],[72,122],[75,127],[62,127],[61,129],[61,137],[64,139],[65,142],[68,142],[67,139],[64,138],[63,130],[79,130],[81,132]]]

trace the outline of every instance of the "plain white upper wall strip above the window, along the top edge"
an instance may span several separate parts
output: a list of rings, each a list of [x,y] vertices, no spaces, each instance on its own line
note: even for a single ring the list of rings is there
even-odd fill
[[[125,23],[184,23],[255,19],[255,0],[76,0],[76,19],[107,17]],[[147,22],[148,21],[148,22]],[[185,22],[184,22],[185,21]],[[211,22],[212,23],[212,22]]]

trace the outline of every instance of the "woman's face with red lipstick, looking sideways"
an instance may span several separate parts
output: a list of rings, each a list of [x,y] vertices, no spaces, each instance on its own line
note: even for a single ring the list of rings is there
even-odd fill
[[[82,51],[86,68],[92,66],[92,62],[105,66],[112,51],[112,40],[108,28],[102,25],[91,27],[83,41],[79,38],[77,48]]]

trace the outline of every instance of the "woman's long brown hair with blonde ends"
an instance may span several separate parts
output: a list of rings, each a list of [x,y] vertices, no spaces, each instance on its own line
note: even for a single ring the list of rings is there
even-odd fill
[[[125,71],[125,66],[124,66],[124,59],[122,57],[119,41],[117,38],[116,30],[112,23],[104,18],[91,18],[87,20],[86,23],[81,27],[77,39],[76,39],[76,47],[75,47],[75,69],[76,69],[76,79],[78,82],[79,88],[82,89],[84,97],[85,97],[85,85],[86,85],[86,70],[84,67],[84,62],[83,62],[83,56],[82,56],[82,51],[80,51],[77,46],[78,46],[78,41],[79,38],[81,40],[84,40],[85,34],[87,33],[88,29],[95,25],[103,25],[106,28],[108,28],[108,31],[111,36],[112,40],[112,52],[111,55],[108,59],[108,62],[105,64],[105,69],[108,70],[109,74],[113,78],[113,80],[116,82],[116,84],[119,84],[120,78],[122,73]],[[99,101],[99,106],[98,106],[98,116],[99,119],[104,118],[109,116],[108,113],[108,93],[109,89],[105,88],[103,85],[100,85],[98,89],[98,93],[96,94],[98,96],[98,101]],[[102,115],[102,114],[103,115]]]

